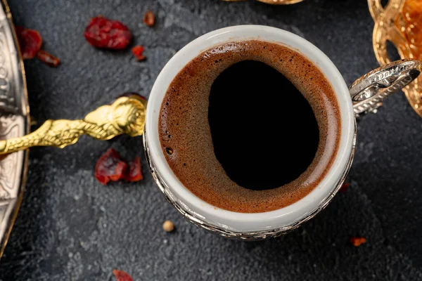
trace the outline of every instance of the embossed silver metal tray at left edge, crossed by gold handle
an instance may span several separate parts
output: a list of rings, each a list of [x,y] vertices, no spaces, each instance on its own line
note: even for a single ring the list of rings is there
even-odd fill
[[[1,6],[1,5],[0,5]],[[29,133],[29,110],[23,62],[18,51],[10,10],[0,7],[0,139]],[[27,151],[0,161],[0,256],[11,233],[23,197]]]

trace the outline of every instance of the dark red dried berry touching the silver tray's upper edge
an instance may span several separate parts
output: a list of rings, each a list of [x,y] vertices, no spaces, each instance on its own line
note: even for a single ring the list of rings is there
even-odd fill
[[[24,60],[35,58],[42,45],[42,37],[37,30],[29,30],[24,27],[15,28],[20,45],[20,51]]]

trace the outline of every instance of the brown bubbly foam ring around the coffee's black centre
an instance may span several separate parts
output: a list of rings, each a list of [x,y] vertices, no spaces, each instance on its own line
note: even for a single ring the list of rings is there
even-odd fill
[[[249,157],[248,163],[251,165],[266,166],[274,164],[274,166],[269,168],[271,176],[274,177],[274,182],[269,182],[271,189],[267,190],[251,190],[229,178],[215,155],[208,121],[210,91],[215,79],[231,65],[245,60],[255,60],[264,63],[264,65],[274,68],[276,72],[288,77],[294,87],[302,93],[312,106],[314,117],[318,122],[319,144],[315,157],[313,157],[310,164],[307,163],[307,169],[299,173],[300,176],[292,176],[295,177],[293,181],[282,184],[282,181],[279,181],[280,178],[276,178],[277,170],[279,170],[278,173],[282,173],[283,170],[283,165],[275,163],[274,157],[279,155],[281,151],[276,148],[276,143],[272,147],[274,148],[273,150],[271,150],[271,144],[265,144],[263,141],[262,145],[264,145],[264,148],[249,148],[248,152],[245,152],[255,154],[257,162],[252,161],[254,160],[253,157]],[[274,72],[271,71],[271,75],[274,75]],[[274,79],[279,79],[279,76],[276,75]],[[257,80],[244,81],[243,83],[250,84],[253,81],[255,81],[255,87],[259,88],[261,83]],[[271,81],[271,84],[267,84],[267,86],[269,85],[274,85],[274,81]],[[236,86],[234,91],[237,92]],[[236,92],[227,94],[236,95]],[[275,98],[274,94],[279,96]],[[245,135],[247,138],[254,138],[255,133],[256,137],[260,133],[264,133],[264,138],[266,135],[274,138],[274,136],[271,136],[271,131],[273,130],[264,130],[264,127],[254,124],[259,118],[262,118],[262,122],[265,119],[263,116],[256,116],[255,107],[259,105],[272,110],[283,110],[283,107],[293,105],[283,103],[280,107],[277,107],[276,102],[281,102],[280,96],[290,94],[288,91],[282,91],[282,89],[278,93],[273,93],[273,97],[270,94],[265,96],[265,93],[256,93],[253,103],[251,97],[246,94],[247,96],[243,97],[244,100],[239,101],[238,104],[247,106],[245,109],[234,105],[234,110],[237,108],[243,112],[243,124],[239,124],[242,122],[242,117],[238,117],[237,120],[231,120],[231,122],[239,124],[237,129],[238,136],[231,141],[236,142],[237,140],[239,145],[247,147],[248,143],[241,144],[245,139]],[[211,98],[213,97],[215,95],[211,96]],[[228,102],[230,103],[229,100]],[[250,103],[245,103],[245,100]],[[267,103],[273,104],[267,105]],[[215,105],[212,106],[214,107]],[[229,106],[228,104],[226,111],[231,110]],[[264,111],[264,109],[258,111]],[[221,113],[224,114],[223,112]],[[299,114],[299,112],[293,113],[293,110],[291,113],[295,117]],[[255,119],[255,121],[252,119]],[[212,122],[215,120],[217,119],[211,119]],[[287,126],[288,124],[286,120],[282,119],[270,120],[272,124],[277,121],[282,126]],[[227,120],[227,122],[230,121]],[[226,123],[225,126],[228,124]],[[234,126],[237,126],[236,124]],[[262,132],[259,131],[260,129],[262,129]],[[333,89],[331,89],[331,85],[318,67],[297,51],[293,51],[281,44],[250,40],[235,41],[212,47],[188,63],[174,78],[163,99],[158,131],[162,152],[167,159],[167,163],[188,190],[191,190],[193,194],[215,207],[230,211],[257,213],[286,207],[311,192],[331,167],[333,158],[338,150],[341,129],[338,103]],[[221,137],[224,138],[224,136]],[[282,143],[282,141],[274,141]],[[306,142],[303,141],[304,145]],[[218,141],[218,143],[224,143],[224,141]],[[315,143],[315,141],[310,143]],[[217,145],[217,150],[219,148],[222,147]],[[172,153],[169,153],[169,151]],[[271,155],[264,155],[266,152]],[[218,152],[218,155],[221,156],[222,153]],[[290,157],[302,157],[300,150],[296,151],[296,153],[295,156],[290,155]],[[261,162],[259,159],[262,159],[262,157],[269,159],[271,163]],[[231,159],[231,161],[234,161],[234,159]],[[244,173],[247,172],[244,171]],[[238,171],[238,174],[241,173],[242,171]],[[265,169],[258,169],[258,172],[255,172],[256,180],[253,183],[255,187],[260,186],[257,183],[260,179],[265,181],[266,176],[264,173]],[[286,178],[281,176],[281,179],[286,180]],[[248,179],[245,178],[244,181],[248,181]],[[275,181],[280,183],[280,185],[276,185]],[[265,187],[265,184],[261,186]]]

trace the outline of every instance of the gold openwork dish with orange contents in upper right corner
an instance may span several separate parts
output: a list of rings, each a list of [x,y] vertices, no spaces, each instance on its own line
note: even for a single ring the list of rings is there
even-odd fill
[[[383,7],[381,0],[368,0],[369,11],[375,22],[373,51],[380,65],[390,63],[387,42],[397,48],[401,58],[422,60],[422,1],[390,0]],[[422,78],[403,89],[411,107],[422,117]]]

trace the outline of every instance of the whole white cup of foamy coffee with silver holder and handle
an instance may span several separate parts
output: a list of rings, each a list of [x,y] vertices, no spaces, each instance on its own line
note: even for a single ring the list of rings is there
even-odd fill
[[[286,233],[321,211],[352,164],[358,115],[421,72],[380,67],[347,88],[316,46],[273,27],[203,35],[165,65],[144,145],[160,190],[189,221],[226,237]]]

